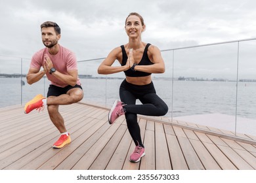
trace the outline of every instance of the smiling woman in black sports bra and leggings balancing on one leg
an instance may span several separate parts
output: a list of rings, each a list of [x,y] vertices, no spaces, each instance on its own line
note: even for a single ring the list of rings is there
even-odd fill
[[[152,73],[164,73],[165,64],[158,47],[141,41],[141,33],[145,29],[142,16],[137,12],[130,13],[125,20],[129,42],[114,48],[98,67],[98,73],[103,75],[122,71],[125,73],[125,80],[119,88],[121,101],[114,102],[108,114],[108,122],[113,124],[119,116],[125,114],[129,133],[136,146],[130,156],[131,162],[138,162],[145,155],[137,114],[164,116],[168,112],[167,105],[156,94],[151,78]],[[116,59],[121,66],[112,67]],[[136,105],[137,99],[142,105]]]

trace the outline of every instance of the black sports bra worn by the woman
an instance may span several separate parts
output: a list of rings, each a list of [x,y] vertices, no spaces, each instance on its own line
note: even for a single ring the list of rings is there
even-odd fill
[[[138,65],[152,65],[152,64],[154,64],[148,58],[148,46],[150,46],[150,43],[146,44],[145,50],[143,52],[142,59],[140,60]],[[125,52],[125,46],[121,45],[121,49],[122,49],[122,54],[123,54],[123,59],[122,59],[121,65],[125,65],[126,62],[127,62],[127,59],[128,59],[127,54]],[[123,72],[125,73],[125,76],[129,76],[129,77],[142,77],[142,76],[151,75],[151,73],[145,73],[145,72],[142,72],[142,71],[133,71],[131,69],[128,69],[127,71],[123,71]]]

